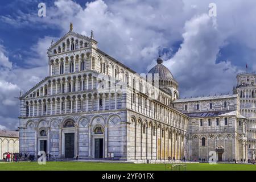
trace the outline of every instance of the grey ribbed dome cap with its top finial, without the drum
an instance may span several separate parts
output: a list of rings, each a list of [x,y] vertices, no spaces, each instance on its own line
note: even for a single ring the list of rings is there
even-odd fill
[[[148,73],[152,74],[152,77],[154,77],[154,74],[159,74],[159,80],[173,80],[174,76],[172,76],[172,73],[168,68],[166,68],[162,63],[163,60],[159,56],[156,60],[158,64],[156,64]]]

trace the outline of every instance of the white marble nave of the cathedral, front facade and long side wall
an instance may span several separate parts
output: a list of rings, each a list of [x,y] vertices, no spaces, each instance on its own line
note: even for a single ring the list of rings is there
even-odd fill
[[[164,81],[175,91],[165,92],[72,29],[48,57],[49,76],[20,96],[20,152],[142,162],[185,156],[188,117],[172,108],[175,80]]]

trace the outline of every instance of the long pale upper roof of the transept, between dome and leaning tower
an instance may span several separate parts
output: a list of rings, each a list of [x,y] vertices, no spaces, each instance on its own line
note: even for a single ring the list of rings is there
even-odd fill
[[[174,103],[179,102],[196,102],[196,101],[207,101],[207,100],[216,100],[224,98],[236,98],[237,94],[221,95],[221,96],[207,96],[207,97],[193,97],[193,98],[180,98],[175,100]]]

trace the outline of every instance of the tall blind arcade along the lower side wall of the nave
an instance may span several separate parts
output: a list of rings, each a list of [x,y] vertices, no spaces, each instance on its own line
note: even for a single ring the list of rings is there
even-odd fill
[[[157,123],[146,124],[135,122],[134,127],[134,159],[172,160],[183,159],[185,156],[185,133],[183,130],[170,126],[157,126]],[[130,151],[131,152],[131,151]],[[130,155],[132,155],[131,153]],[[130,156],[133,158],[133,156]]]

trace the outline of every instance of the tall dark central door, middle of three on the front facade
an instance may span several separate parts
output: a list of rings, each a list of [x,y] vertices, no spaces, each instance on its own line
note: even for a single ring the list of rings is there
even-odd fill
[[[65,133],[65,158],[73,158],[75,153],[75,133]]]

